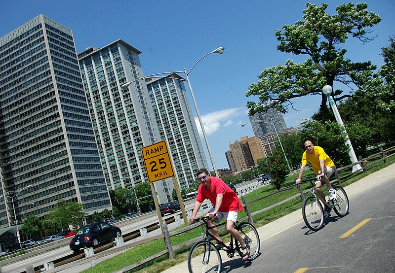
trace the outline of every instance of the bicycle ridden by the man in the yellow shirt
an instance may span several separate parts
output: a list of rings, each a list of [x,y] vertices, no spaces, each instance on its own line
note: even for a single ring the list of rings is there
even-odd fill
[[[328,200],[322,199],[318,194],[316,194],[316,189],[322,186],[316,187],[315,180],[302,180],[302,183],[310,182],[312,185],[310,189],[310,196],[307,197],[303,203],[302,207],[302,215],[303,220],[312,231],[318,231],[322,228],[324,224],[324,209],[320,202],[317,201],[317,196],[319,200],[324,204],[330,212],[332,209],[336,212],[340,217],[346,216],[349,212],[349,198],[347,197],[346,191],[339,185],[333,186],[336,190],[336,200]]]

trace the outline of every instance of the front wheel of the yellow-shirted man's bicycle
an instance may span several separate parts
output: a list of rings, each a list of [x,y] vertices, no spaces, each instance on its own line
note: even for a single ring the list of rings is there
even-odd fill
[[[324,210],[316,197],[309,196],[302,207],[303,220],[312,231],[318,231],[324,224]]]

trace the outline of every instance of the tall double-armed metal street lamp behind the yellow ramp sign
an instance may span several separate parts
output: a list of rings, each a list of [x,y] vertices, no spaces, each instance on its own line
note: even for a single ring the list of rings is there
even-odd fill
[[[218,170],[217,170],[217,168],[216,168],[216,166],[215,166],[215,163],[214,163],[214,158],[213,158],[213,155],[212,155],[212,153],[211,153],[210,146],[209,146],[209,144],[208,144],[208,139],[207,139],[206,131],[204,130],[204,126],[203,126],[203,122],[202,122],[201,117],[200,117],[199,109],[197,108],[197,103],[196,103],[196,100],[195,100],[194,91],[193,91],[193,89],[192,89],[191,81],[189,80],[189,76],[188,76],[188,75],[189,75],[189,73],[191,73],[192,69],[195,68],[195,66],[197,65],[197,63],[200,62],[201,59],[203,59],[203,58],[206,57],[207,55],[210,55],[210,54],[213,54],[213,53],[222,54],[222,53],[224,53],[224,49],[225,49],[225,47],[220,46],[220,47],[218,47],[217,49],[214,49],[213,51],[207,53],[206,55],[204,55],[203,57],[201,57],[199,60],[197,60],[197,62],[195,63],[195,65],[193,65],[192,68],[189,69],[188,72],[187,72],[187,69],[184,68],[183,71],[162,72],[162,73],[151,74],[151,75],[148,75],[148,76],[144,76],[144,77],[135,79],[135,80],[133,80],[133,81],[131,81],[131,82],[124,83],[124,84],[122,84],[122,86],[121,86],[122,89],[126,89],[126,88],[129,87],[130,84],[132,84],[133,82],[138,81],[138,80],[143,80],[143,79],[148,79],[148,78],[156,78],[156,77],[163,77],[163,76],[159,76],[159,75],[163,75],[163,74],[170,74],[170,75],[171,75],[171,74],[173,74],[173,73],[184,73],[185,76],[186,76],[186,78],[187,78],[189,90],[191,91],[192,101],[194,102],[194,105],[195,105],[195,109],[196,109],[196,113],[197,113],[197,119],[199,120],[201,132],[203,133],[203,138],[204,138],[204,141],[206,142],[207,151],[208,151],[208,154],[209,154],[209,156],[210,156],[211,164],[212,164],[212,166],[213,166],[215,175],[216,175],[217,177],[219,177],[219,173],[218,173]],[[164,77],[164,78],[172,78],[172,77],[171,77],[171,76],[168,76],[168,77]],[[180,78],[176,78],[176,79],[177,79],[177,80],[181,80]]]

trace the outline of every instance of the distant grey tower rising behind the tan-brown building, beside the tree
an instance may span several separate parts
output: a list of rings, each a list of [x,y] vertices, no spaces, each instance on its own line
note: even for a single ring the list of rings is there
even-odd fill
[[[272,108],[265,112],[256,113],[255,115],[250,116],[249,119],[252,131],[254,131],[254,136],[256,137],[266,135],[268,133],[275,133],[275,128],[273,127],[271,120],[273,120],[277,132],[287,128],[282,113]]]

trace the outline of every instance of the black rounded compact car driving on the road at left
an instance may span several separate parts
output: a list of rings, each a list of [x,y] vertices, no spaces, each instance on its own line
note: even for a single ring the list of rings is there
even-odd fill
[[[96,247],[99,244],[121,236],[118,227],[105,222],[97,222],[83,226],[70,241],[70,249],[78,252],[83,247]]]

